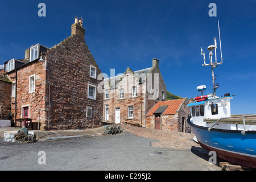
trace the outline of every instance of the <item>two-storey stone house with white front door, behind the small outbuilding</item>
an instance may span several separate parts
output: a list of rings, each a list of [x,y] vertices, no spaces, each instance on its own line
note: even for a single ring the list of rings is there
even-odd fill
[[[146,114],[158,101],[166,100],[166,85],[159,69],[159,60],[152,67],[125,73],[104,80],[103,120],[110,123],[146,125]]]

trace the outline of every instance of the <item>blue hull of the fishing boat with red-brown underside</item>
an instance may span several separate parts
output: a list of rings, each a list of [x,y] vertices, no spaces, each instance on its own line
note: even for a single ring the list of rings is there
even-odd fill
[[[256,131],[211,129],[188,121],[201,147],[216,151],[219,158],[256,168]]]

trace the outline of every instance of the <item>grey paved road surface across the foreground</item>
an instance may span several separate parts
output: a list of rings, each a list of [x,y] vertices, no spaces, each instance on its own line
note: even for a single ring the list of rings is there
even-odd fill
[[[130,133],[34,143],[0,143],[0,170],[221,170],[201,148],[155,148]],[[39,151],[44,151],[46,164]]]

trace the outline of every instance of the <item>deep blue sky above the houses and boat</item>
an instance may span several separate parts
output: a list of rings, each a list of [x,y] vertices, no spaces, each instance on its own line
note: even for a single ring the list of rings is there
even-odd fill
[[[38,4],[46,4],[46,17]],[[217,17],[210,17],[216,3]],[[102,72],[110,76],[149,68],[160,60],[167,90],[181,97],[196,97],[196,87],[212,92],[210,67],[202,67],[203,47],[217,38],[220,20],[224,63],[214,69],[218,96],[230,93],[232,114],[256,114],[256,1],[205,0],[90,0],[1,1],[0,65],[23,59],[32,44],[52,47],[71,35],[76,16],[84,19],[85,41]],[[220,60],[220,49],[217,49]],[[205,91],[207,94],[207,91]]]

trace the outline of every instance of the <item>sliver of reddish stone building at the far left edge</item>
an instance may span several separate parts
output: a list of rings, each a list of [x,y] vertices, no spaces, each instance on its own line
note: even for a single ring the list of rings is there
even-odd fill
[[[0,119],[11,111],[11,81],[0,71]]]

